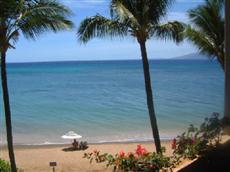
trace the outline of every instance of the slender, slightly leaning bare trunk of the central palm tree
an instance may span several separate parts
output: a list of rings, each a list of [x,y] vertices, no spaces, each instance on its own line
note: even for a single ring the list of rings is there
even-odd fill
[[[161,153],[161,142],[160,142],[156,114],[155,114],[154,104],[153,104],[151,78],[149,73],[149,62],[148,62],[148,57],[146,52],[145,41],[139,41],[139,44],[141,48],[141,56],[142,56],[142,63],[143,63],[143,70],[144,70],[144,77],[145,77],[145,91],[147,96],[147,105],[149,110],[149,117],[150,117],[150,122],[152,127],[153,138],[156,145],[157,153]]]

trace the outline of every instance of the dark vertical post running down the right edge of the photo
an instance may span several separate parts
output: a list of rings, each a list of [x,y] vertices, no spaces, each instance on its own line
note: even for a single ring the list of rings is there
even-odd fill
[[[224,121],[230,124],[230,1],[225,0],[225,104]]]

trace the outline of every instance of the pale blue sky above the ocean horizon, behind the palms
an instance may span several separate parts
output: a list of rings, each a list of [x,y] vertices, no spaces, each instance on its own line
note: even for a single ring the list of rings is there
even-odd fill
[[[109,16],[109,0],[60,0],[69,7],[75,27],[72,30],[58,33],[47,32],[35,41],[20,36],[16,49],[7,52],[7,62],[43,62],[43,61],[78,61],[78,60],[123,60],[140,59],[140,49],[135,38],[94,38],[87,44],[81,44],[77,38],[79,23],[86,17],[97,13]],[[162,19],[178,20],[189,23],[187,11],[202,4],[204,0],[175,0]],[[190,42],[179,45],[172,41],[150,39],[147,41],[149,59],[168,59],[198,50]]]

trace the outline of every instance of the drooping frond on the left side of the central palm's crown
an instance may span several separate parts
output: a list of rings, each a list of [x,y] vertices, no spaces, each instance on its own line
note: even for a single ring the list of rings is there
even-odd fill
[[[94,37],[123,37],[128,34],[128,27],[125,25],[125,23],[120,23],[117,20],[96,15],[84,19],[80,23],[77,34],[79,40],[83,43],[86,43]]]

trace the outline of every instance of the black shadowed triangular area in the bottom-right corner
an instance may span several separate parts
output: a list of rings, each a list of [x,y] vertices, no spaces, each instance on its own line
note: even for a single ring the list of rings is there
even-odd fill
[[[210,150],[178,172],[221,172],[230,167],[230,140]],[[227,170],[229,171],[229,170]]]

